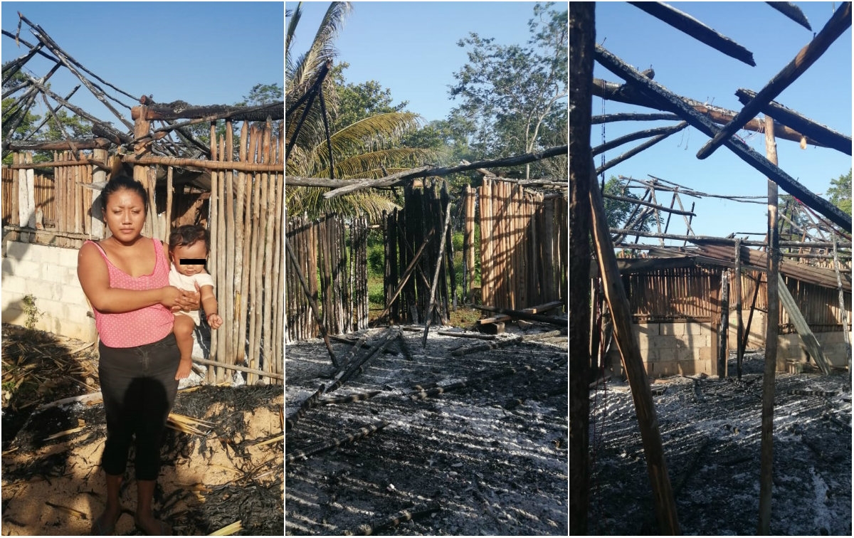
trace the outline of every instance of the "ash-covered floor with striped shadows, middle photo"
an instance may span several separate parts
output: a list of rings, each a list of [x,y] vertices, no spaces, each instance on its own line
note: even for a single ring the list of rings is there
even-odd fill
[[[534,326],[496,342],[551,329]],[[324,397],[377,395],[314,406],[288,430],[287,535],[360,534],[368,527],[380,535],[567,534],[566,337],[453,356],[454,348],[483,341],[436,333],[431,329],[421,348],[420,330],[401,330],[411,360],[395,339]],[[369,330],[367,345],[383,334]],[[339,358],[352,348],[333,346]],[[335,371],[322,342],[290,344],[286,416],[328,386]],[[453,386],[464,380],[465,387]],[[413,398],[417,385],[447,390]],[[360,440],[288,457],[382,421],[388,424]],[[401,511],[412,518],[393,523]]]

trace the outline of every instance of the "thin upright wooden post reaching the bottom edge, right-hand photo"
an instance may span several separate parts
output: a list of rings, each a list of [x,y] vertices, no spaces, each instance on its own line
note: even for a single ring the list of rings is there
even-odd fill
[[[777,164],[774,120],[765,115],[765,152]],[[777,234],[777,184],[768,180],[768,318],[765,329],[765,369],[762,379],[762,456],[759,467],[759,523],[757,534],[769,535],[771,487],[774,478],[774,377],[777,370],[777,332],[780,325],[778,294],[780,236]]]

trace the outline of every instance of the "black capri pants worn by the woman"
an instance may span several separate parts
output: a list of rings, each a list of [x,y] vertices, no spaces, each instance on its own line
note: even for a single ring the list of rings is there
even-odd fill
[[[166,420],[178,392],[181,353],[170,332],[159,342],[135,348],[99,344],[98,376],[107,412],[107,442],[101,465],[109,475],[122,475],[136,436],[137,480],[156,480]]]

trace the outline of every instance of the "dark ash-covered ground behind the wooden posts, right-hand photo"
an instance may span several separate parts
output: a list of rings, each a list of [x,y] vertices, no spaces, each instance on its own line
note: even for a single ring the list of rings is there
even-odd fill
[[[770,532],[850,536],[851,378],[811,370],[775,376]],[[757,534],[763,354],[745,356],[740,382],[732,357],[729,371],[652,384],[685,535]],[[629,384],[591,390],[590,405],[588,533],[658,535]]]

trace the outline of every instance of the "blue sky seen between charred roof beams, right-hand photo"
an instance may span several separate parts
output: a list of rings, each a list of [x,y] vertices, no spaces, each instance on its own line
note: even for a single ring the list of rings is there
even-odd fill
[[[840,3],[796,2],[810,21],[813,32],[819,32]],[[628,3],[597,3],[596,42],[640,70],[652,67],[655,80],[681,96],[699,102],[709,101],[719,107],[740,110],[743,105],[734,95],[739,88],[760,91],[779,73],[798,51],[813,38],[813,32],[787,19],[763,2],[670,3],[676,9],[692,15],[753,53],[756,67],[725,56],[647,15]],[[617,75],[596,64],[594,77],[622,83]],[[851,136],[851,28],[839,37],[830,49],[802,74],[787,90],[775,99],[811,120],[837,132]],[[603,100],[594,96],[594,114],[603,113]],[[619,102],[605,101],[604,113],[654,112]],[[605,139],[612,140],[629,132],[654,126],[674,125],[664,121],[623,121],[605,124]],[[684,134],[683,134],[684,133]],[[765,155],[764,135],[738,132],[750,146]],[[710,194],[765,196],[766,178],[741,161],[726,148],[699,161],[697,151],[708,137],[688,127],[671,135],[651,149],[608,169],[606,177],[630,176],[649,179],[647,174],[663,178],[691,189]],[[605,161],[634,147],[635,141],[605,152]],[[602,143],[602,126],[593,126],[592,143]],[[816,193],[824,193],[831,178],[838,178],[851,168],[851,156],[834,149],[808,146],[778,139],[779,166],[793,178]],[[596,166],[601,165],[596,155]],[[640,194],[639,190],[634,191]],[[786,194],[782,189],[780,194]],[[659,195],[658,202],[670,204],[669,194]],[[725,237],[732,232],[761,232],[764,234],[767,209],[760,205],[720,201],[713,198],[698,200],[681,196],[690,208],[696,202],[692,227],[698,235]],[[687,203],[686,203],[687,202]],[[671,220],[670,233],[684,234],[681,217]],[[762,237],[752,237],[762,239]],[[641,239],[642,243],[658,243]],[[681,245],[681,242],[678,244]]]

